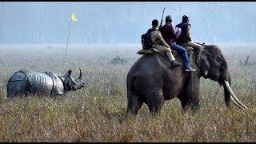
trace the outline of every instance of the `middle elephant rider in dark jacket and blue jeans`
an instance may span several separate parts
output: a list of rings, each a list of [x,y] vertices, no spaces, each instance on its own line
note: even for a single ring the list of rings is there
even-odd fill
[[[188,58],[188,54],[186,49],[182,46],[179,46],[175,43],[175,40],[178,38],[178,34],[174,32],[174,27],[171,25],[172,19],[170,15],[166,16],[166,24],[161,27],[160,32],[162,34],[162,38],[170,45],[171,50],[175,50],[178,54],[181,54],[182,61],[184,63],[184,68],[186,71],[195,71],[195,69],[191,68],[190,60]]]

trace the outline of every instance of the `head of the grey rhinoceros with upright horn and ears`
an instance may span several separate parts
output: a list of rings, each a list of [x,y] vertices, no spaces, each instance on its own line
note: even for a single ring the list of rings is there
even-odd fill
[[[82,81],[82,71],[80,70],[79,77],[74,79],[71,76],[72,70],[68,70],[66,74],[63,74],[60,78],[62,79],[62,82],[64,84],[64,90],[78,90],[85,86],[85,83]]]

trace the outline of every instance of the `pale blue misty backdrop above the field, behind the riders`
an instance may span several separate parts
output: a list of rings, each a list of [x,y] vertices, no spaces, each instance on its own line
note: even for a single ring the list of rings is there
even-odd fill
[[[0,43],[140,43],[153,19],[190,17],[196,42],[255,42],[256,2],[0,2]],[[164,19],[163,19],[164,23]]]

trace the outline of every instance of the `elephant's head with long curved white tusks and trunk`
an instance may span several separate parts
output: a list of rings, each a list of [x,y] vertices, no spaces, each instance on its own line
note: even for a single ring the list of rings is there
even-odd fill
[[[218,46],[204,46],[201,54],[198,56],[198,67],[200,69],[200,75],[203,78],[210,78],[224,87],[227,107],[230,106],[231,99],[235,106],[238,106],[242,110],[248,110],[247,107],[238,100],[230,87],[230,73],[228,71],[226,60]]]

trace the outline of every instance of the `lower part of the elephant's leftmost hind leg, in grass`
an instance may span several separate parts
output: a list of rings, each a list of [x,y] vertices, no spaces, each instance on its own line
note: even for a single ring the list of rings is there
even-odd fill
[[[127,104],[127,113],[137,115],[138,110],[142,107],[143,102],[135,94],[130,94]]]

